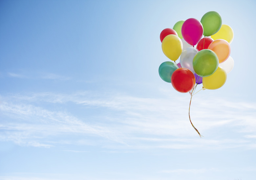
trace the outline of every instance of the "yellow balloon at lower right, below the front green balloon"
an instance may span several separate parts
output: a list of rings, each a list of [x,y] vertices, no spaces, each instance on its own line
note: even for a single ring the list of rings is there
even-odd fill
[[[222,87],[227,79],[227,73],[221,67],[210,76],[203,77],[203,87],[208,90],[216,90]]]

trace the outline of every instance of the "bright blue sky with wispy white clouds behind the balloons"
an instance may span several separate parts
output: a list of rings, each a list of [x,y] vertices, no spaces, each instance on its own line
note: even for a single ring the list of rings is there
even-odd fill
[[[0,180],[255,179],[255,8],[1,0]],[[192,98],[200,138],[189,93],[158,74],[160,32],[208,11],[233,29],[235,63]]]

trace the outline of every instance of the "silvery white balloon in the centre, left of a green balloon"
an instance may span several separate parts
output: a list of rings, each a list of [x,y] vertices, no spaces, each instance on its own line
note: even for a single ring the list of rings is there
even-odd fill
[[[198,53],[198,50],[193,47],[188,47],[187,49],[182,51],[181,57],[180,57],[181,67],[187,68],[190,71],[192,71],[192,73],[195,73],[193,69],[193,58],[197,53]]]

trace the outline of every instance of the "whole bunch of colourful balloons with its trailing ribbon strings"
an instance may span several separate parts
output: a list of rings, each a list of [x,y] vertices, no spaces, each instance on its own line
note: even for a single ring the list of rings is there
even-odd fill
[[[173,28],[162,30],[162,51],[171,61],[161,63],[161,79],[171,83],[179,92],[189,92],[191,99],[198,84],[203,84],[203,90],[221,88],[234,67],[234,60],[230,57],[233,38],[232,28],[222,24],[216,11],[205,13],[201,21],[189,18],[178,21]],[[176,63],[178,59],[180,62]]]

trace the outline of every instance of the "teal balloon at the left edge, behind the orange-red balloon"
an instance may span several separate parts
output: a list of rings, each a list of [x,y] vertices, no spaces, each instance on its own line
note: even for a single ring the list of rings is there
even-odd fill
[[[170,83],[171,76],[176,69],[178,69],[178,66],[175,63],[166,61],[159,66],[158,73],[162,80]]]

